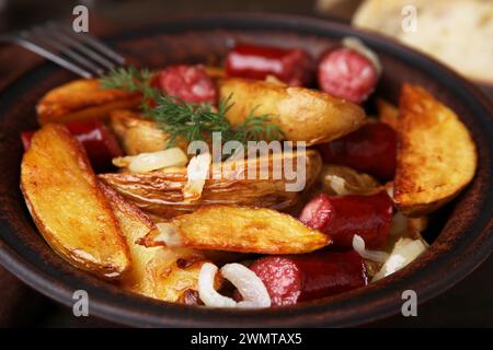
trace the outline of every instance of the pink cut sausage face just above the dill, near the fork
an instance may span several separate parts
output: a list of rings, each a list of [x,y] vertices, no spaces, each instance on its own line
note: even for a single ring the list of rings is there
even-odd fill
[[[180,97],[186,103],[216,104],[216,88],[200,66],[168,67],[159,73],[158,85],[168,95]]]

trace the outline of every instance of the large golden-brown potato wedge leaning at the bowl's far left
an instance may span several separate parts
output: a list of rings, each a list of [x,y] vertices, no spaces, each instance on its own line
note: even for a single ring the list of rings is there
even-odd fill
[[[21,165],[30,212],[56,253],[78,268],[117,278],[130,265],[115,215],[83,148],[61,125],[37,131]]]

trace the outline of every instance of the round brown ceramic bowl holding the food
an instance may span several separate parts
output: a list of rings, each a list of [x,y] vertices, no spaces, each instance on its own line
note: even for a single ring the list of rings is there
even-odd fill
[[[296,306],[257,311],[210,310],[170,304],[125,292],[62,260],[38,234],[19,190],[20,131],[36,126],[34,106],[70,73],[45,63],[0,96],[0,261],[47,296],[72,305],[74,290],[90,295],[90,314],[118,324],[165,327],[354,326],[400,312],[401,294],[415,290],[420,303],[460,281],[493,247],[491,182],[492,108],[467,81],[436,61],[393,42],[329,21],[285,15],[188,18],[108,38],[142,66],[219,62],[234,40],[302,47],[317,56],[343,36],[376,50],[385,67],[377,94],[397,102],[403,82],[432,91],[468,126],[479,151],[470,186],[434,215],[429,249],[391,277],[352,292]],[[454,144],[450,144],[454,147]]]

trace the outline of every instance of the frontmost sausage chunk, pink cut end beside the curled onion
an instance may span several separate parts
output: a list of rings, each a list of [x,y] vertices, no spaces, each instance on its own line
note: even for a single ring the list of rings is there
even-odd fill
[[[250,269],[264,282],[274,306],[325,298],[367,284],[365,264],[355,252],[268,256],[256,260]]]

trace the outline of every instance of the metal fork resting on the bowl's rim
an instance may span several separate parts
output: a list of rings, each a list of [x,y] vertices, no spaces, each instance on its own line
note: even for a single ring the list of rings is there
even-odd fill
[[[105,44],[60,23],[0,35],[0,42],[20,45],[87,79],[125,65],[125,58]]]

